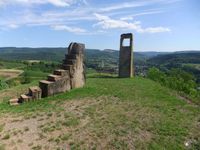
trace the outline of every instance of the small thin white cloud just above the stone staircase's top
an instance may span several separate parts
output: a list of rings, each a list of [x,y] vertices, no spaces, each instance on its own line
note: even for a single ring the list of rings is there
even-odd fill
[[[85,29],[78,28],[78,27],[69,27],[66,25],[54,25],[52,26],[52,28],[57,31],[68,31],[68,32],[76,33],[76,34],[86,33]]]

